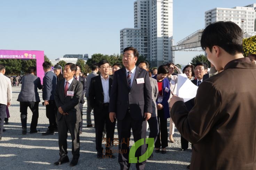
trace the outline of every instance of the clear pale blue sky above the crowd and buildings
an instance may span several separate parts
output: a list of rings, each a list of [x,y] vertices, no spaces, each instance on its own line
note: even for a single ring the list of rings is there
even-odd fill
[[[0,49],[41,50],[50,60],[65,54],[120,54],[120,29],[134,28],[134,0],[1,0]],[[253,0],[173,0],[174,44],[205,26],[205,11]],[[186,65],[201,52],[175,51]]]

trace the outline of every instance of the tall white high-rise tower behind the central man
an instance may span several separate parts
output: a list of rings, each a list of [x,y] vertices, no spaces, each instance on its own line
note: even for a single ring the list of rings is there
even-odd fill
[[[156,67],[174,62],[172,39],[173,0],[137,0],[134,2],[134,28],[120,30],[120,52],[133,46],[150,61],[151,67]]]

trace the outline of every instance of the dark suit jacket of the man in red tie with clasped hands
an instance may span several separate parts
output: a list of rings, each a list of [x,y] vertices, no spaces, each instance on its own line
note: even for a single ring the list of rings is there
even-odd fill
[[[68,91],[74,91],[74,96],[64,96],[64,83],[65,78],[57,83],[57,88],[54,94],[54,99],[57,108],[61,107],[62,110],[69,115],[65,115],[67,120],[71,123],[79,123],[82,121],[81,112],[79,107],[80,97],[82,95],[83,86],[76,79],[73,79]],[[59,121],[63,115],[57,112],[57,120]]]

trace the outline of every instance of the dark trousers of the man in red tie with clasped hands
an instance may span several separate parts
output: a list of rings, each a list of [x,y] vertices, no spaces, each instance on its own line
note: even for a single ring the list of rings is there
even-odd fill
[[[67,119],[68,117],[68,119]],[[59,135],[59,156],[67,156],[67,131],[69,130],[72,140],[72,155],[73,158],[80,156],[80,138],[78,124],[71,124],[69,116],[62,116],[58,121],[58,135]]]

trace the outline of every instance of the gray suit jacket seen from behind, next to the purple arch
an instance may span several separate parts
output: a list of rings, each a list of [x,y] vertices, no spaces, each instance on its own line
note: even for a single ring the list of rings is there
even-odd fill
[[[37,89],[41,90],[41,80],[39,77],[28,74],[22,77],[21,92],[17,101],[19,102],[40,102]]]

